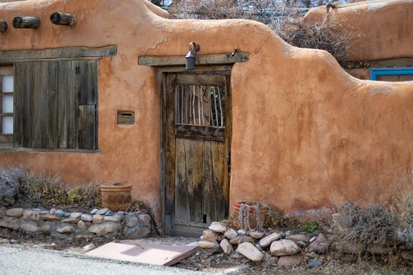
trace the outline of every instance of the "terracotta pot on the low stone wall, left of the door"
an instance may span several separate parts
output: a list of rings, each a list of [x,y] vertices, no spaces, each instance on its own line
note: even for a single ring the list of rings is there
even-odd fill
[[[101,185],[102,206],[112,211],[125,211],[132,200],[131,185]]]

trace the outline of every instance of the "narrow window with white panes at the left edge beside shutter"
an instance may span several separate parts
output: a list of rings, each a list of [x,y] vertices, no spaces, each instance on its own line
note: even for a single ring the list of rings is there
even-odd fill
[[[12,66],[0,66],[0,98],[0,141],[11,143],[14,111],[14,76]]]

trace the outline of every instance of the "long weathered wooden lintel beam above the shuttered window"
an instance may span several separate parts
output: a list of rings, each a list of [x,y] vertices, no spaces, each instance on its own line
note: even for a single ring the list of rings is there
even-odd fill
[[[0,51],[0,62],[27,61],[50,58],[87,58],[116,56],[118,48],[114,45],[105,47],[56,47],[44,50],[6,50]]]

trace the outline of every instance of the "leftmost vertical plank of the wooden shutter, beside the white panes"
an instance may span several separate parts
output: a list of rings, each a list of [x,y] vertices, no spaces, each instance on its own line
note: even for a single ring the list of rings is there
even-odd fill
[[[22,63],[14,63],[14,147],[23,146],[23,80]]]

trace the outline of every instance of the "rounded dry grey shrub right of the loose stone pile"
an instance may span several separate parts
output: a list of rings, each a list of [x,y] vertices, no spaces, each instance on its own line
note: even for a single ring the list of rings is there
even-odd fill
[[[335,215],[333,239],[346,243],[359,242],[368,250],[394,240],[398,224],[392,208],[374,204],[364,209],[357,204],[346,202]]]

